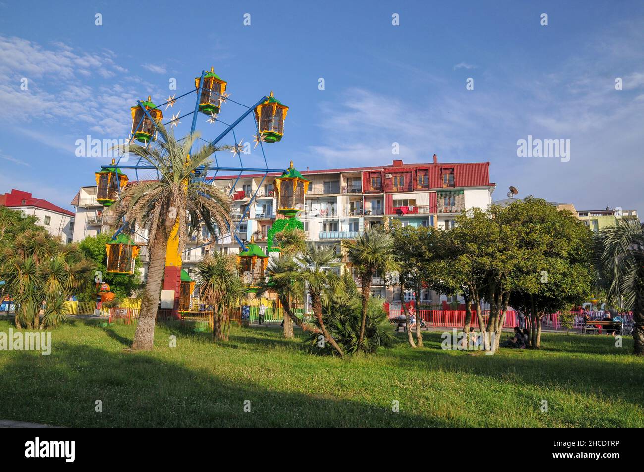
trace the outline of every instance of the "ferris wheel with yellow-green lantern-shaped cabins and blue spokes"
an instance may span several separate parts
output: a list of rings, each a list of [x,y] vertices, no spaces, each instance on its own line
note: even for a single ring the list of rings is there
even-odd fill
[[[190,133],[192,134],[196,129],[199,114],[203,113],[209,117],[207,119],[207,123],[211,125],[221,123],[226,126],[225,129],[223,129],[223,131],[213,140],[205,140],[201,137],[200,139],[216,146],[223,138],[231,133],[234,144],[230,147],[232,148],[233,158],[238,156],[238,162],[232,166],[223,166],[220,164],[220,158],[215,152],[214,165],[209,166],[208,169],[205,169],[203,166],[199,167],[194,173],[193,178],[204,180],[207,177],[206,174],[209,170],[214,171],[214,176],[220,173],[220,171],[236,173],[236,180],[231,186],[229,192],[231,196],[243,173],[251,172],[263,174],[261,182],[258,185],[258,189],[261,187],[269,173],[281,173],[281,176],[275,180],[275,186],[276,196],[278,198],[278,213],[283,215],[285,218],[277,220],[268,234],[269,252],[278,251],[278,248],[272,247],[272,237],[275,232],[283,231],[285,229],[303,228],[302,223],[295,217],[298,213],[298,208],[303,209],[304,196],[308,188],[308,180],[294,169],[292,162],[290,163],[289,169],[269,169],[266,155],[264,153],[264,143],[278,142],[283,137],[284,120],[287,112],[289,111],[289,107],[279,102],[272,92],[270,92],[270,95],[263,95],[256,104],[250,107],[230,99],[229,94],[226,93],[227,82],[214,73],[213,68],[211,68],[210,71],[202,71],[200,77],[196,77],[194,79],[194,84],[195,87],[193,90],[187,91],[176,98],[175,96],[169,97],[166,102],[158,106],[151,101],[151,97],[147,97],[147,100],[138,100],[137,104],[131,108],[132,127],[131,137],[129,138],[128,144],[133,142],[133,140],[137,140],[142,142],[144,146],[149,146],[156,138],[153,120],[163,122],[162,120],[164,116],[161,108],[166,106],[167,110],[167,108],[175,106],[176,100],[188,97],[194,93],[196,100],[193,111],[185,113],[184,115],[180,115],[179,111],[176,116],[173,115],[171,120],[164,123],[164,125],[176,126],[180,122],[180,119],[192,115],[192,124],[190,127]],[[220,119],[222,105],[225,102],[233,102],[245,108],[242,115],[232,121],[231,124],[227,124]],[[260,146],[261,157],[263,158],[263,167],[245,167],[242,160],[243,140],[238,143],[236,138],[236,127],[240,126],[243,120],[251,114],[254,117],[254,132],[256,133],[254,137],[255,147],[258,145]],[[112,160],[110,165],[102,165],[100,171],[95,174],[97,201],[102,203],[105,207],[109,207],[113,205],[113,203],[117,202],[120,191],[122,191],[122,189],[124,189],[128,184],[128,176],[122,172],[122,169],[133,170],[135,172],[136,181],[139,180],[138,171],[156,171],[156,167],[153,167],[153,165],[149,165],[145,162],[142,164],[141,157],[138,157],[136,164],[121,164],[122,161],[124,163],[128,162],[128,159],[124,160],[123,157],[124,156],[120,156],[118,161]],[[242,279],[245,282],[245,285],[247,285],[249,292],[256,290],[258,282],[263,279],[263,272],[266,267],[267,259],[269,258],[269,256],[267,256],[267,254],[265,254],[263,250],[254,243],[252,237],[251,241],[248,242],[244,241],[243,237],[240,238],[239,235],[240,227],[242,226],[242,223],[247,220],[249,215],[251,203],[256,201],[256,194],[257,190],[252,194],[249,205],[247,205],[247,209],[242,214],[242,218],[237,223],[236,228],[227,228],[232,234],[232,237],[240,245],[240,253],[238,254],[240,275],[242,275]],[[106,245],[108,254],[107,270],[110,273],[133,275],[135,271],[135,258],[138,255],[140,247],[131,240],[131,234],[126,234],[126,232],[133,231],[133,229],[129,228],[126,222],[121,222],[120,224],[122,225],[115,232],[113,240],[109,241]],[[175,229],[173,229],[173,232],[171,232],[169,236],[163,286],[165,292],[164,296],[174,292],[173,315],[175,316],[178,316],[180,305],[179,301],[182,296],[182,292],[186,292],[189,289],[191,291],[191,288],[194,287],[194,283],[187,276],[185,270],[181,269],[182,252],[185,252],[185,250],[179,247],[177,231],[178,225],[175,225]],[[204,246],[209,244],[211,243],[205,243]],[[185,293],[183,295],[185,296]],[[162,296],[162,300],[164,299],[164,296]]]

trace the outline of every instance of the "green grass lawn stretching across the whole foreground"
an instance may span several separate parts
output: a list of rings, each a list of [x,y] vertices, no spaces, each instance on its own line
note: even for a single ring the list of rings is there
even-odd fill
[[[0,321],[0,332],[11,327]],[[644,359],[628,354],[629,337],[620,349],[612,337],[544,334],[540,351],[484,355],[441,350],[438,332],[413,350],[399,334],[393,348],[343,360],[308,354],[300,339],[270,328],[233,328],[228,343],[213,345],[208,334],[157,326],[153,352],[124,350],[133,335],[133,326],[76,320],[52,331],[50,355],[0,351],[0,419],[84,427],[644,426]]]

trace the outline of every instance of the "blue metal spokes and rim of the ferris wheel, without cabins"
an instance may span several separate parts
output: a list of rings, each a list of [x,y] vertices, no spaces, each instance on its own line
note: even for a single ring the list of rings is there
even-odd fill
[[[171,124],[171,123],[173,123],[175,121],[178,121],[180,118],[184,118],[184,117],[188,117],[190,115],[193,115],[193,120],[192,120],[192,124],[191,124],[191,127],[190,127],[190,134],[192,135],[194,133],[194,129],[196,128],[197,116],[198,116],[198,113],[199,113],[200,91],[202,90],[201,84],[204,83],[205,73],[206,73],[205,70],[202,71],[202,74],[201,74],[201,77],[200,77],[200,80],[199,80],[199,86],[194,88],[194,90],[191,90],[191,91],[188,91],[186,93],[183,93],[182,95],[179,95],[178,97],[176,97],[176,99],[173,98],[171,100],[167,100],[166,102],[164,102],[164,103],[156,106],[155,108],[153,108],[153,109],[158,109],[158,108],[160,108],[160,107],[162,107],[164,105],[169,104],[170,102],[174,103],[175,100],[178,100],[178,99],[180,99],[182,97],[185,97],[186,95],[189,95],[191,93],[196,93],[196,100],[195,100],[195,104],[194,104],[194,110],[191,111],[190,113],[186,113],[185,115],[182,115],[180,117],[176,117],[173,120],[170,120],[170,121],[166,122],[164,124],[164,126],[167,125],[167,124]],[[223,97],[223,95],[221,95],[219,93],[216,93],[216,92],[213,92],[213,91],[211,91],[211,93],[215,93],[216,95],[219,95],[220,97],[222,97],[226,101],[230,100],[231,102],[234,102],[234,103],[236,103],[236,104],[238,104],[240,106],[243,106],[243,107],[247,108],[247,110],[244,111],[244,113],[242,113],[242,115],[240,117],[238,117],[236,120],[234,120],[234,122],[232,122],[232,124],[226,124],[222,120],[219,120],[218,118],[214,118],[216,121],[222,122],[222,124],[226,124],[227,128],[218,137],[214,138],[214,140],[212,140],[212,141],[205,140],[206,142],[209,142],[211,144],[211,146],[216,146],[216,144],[218,144],[218,142],[220,142],[220,140],[222,140],[231,131],[232,131],[233,139],[234,139],[235,144],[236,144],[237,143],[237,137],[235,135],[234,128],[238,124],[240,124],[243,121],[244,118],[246,118],[248,115],[250,115],[258,106],[260,106],[266,100],[269,100],[269,97],[267,95],[264,95],[263,97],[261,97],[260,100],[258,100],[258,102],[256,102],[256,104],[254,104],[252,107],[249,107],[249,106],[246,106],[246,105],[244,105],[244,104],[242,104],[240,102],[236,102],[235,100],[229,99],[228,97]],[[149,114],[149,110],[146,109],[146,107],[143,105],[141,100],[137,100],[137,105],[143,110],[144,115],[142,115],[142,117],[140,118],[140,120],[137,123],[137,126],[134,129],[138,129],[138,127],[143,122],[145,117],[147,117],[147,118],[149,118],[150,120],[153,121],[153,118]],[[234,239],[240,245],[240,248],[241,248],[242,251],[246,249],[246,246],[243,243],[243,241],[240,240],[239,236],[237,235],[237,232],[239,232],[242,223],[245,220],[247,220],[247,216],[248,216],[249,211],[251,209],[250,203],[256,201],[257,193],[258,193],[261,185],[263,184],[264,180],[269,175],[269,173],[285,173],[285,172],[287,172],[286,169],[269,169],[269,165],[268,165],[268,162],[266,160],[266,155],[264,153],[263,140],[261,140],[261,138],[260,138],[260,126],[259,126],[259,123],[257,122],[257,118],[253,117],[253,119],[255,121],[255,129],[256,129],[256,131],[258,133],[257,134],[258,142],[260,144],[261,155],[263,157],[265,167],[244,167],[243,162],[242,162],[242,156],[241,156],[241,154],[239,152],[237,153],[238,156],[239,156],[239,160],[240,160],[239,167],[222,167],[222,166],[220,166],[216,152],[213,153],[214,154],[215,165],[213,167],[209,167],[209,169],[214,171],[214,176],[216,176],[220,171],[238,173],[234,184],[231,185],[231,190],[229,191],[229,196],[232,196],[232,192],[234,191],[234,189],[235,189],[237,183],[239,182],[240,178],[242,178],[243,173],[245,173],[245,172],[263,173],[263,176],[261,178],[260,184],[258,185],[257,189],[252,194],[251,200],[249,201],[249,205],[247,205],[247,208],[246,208],[245,212],[243,212],[243,214],[242,214],[242,218],[240,218],[240,221],[237,223],[235,231],[232,231],[230,223],[227,223],[228,231],[231,233],[231,235],[234,237]],[[133,142],[133,140],[134,140],[134,135],[132,135],[130,137],[130,139],[128,141],[128,144]],[[149,146],[150,142],[151,141],[147,142],[146,146]],[[191,149],[191,151],[192,151],[192,149]],[[138,162],[137,162],[136,165],[120,165],[121,159],[122,159],[122,156],[119,156],[118,162],[115,165],[101,165],[100,167],[101,167],[101,169],[133,169],[135,171],[135,176],[136,176],[137,180],[138,180],[138,171],[139,170],[154,170],[154,171],[156,171],[157,178],[159,178],[158,169],[153,165],[141,165],[141,159],[142,158],[140,156],[138,158]],[[206,177],[206,175],[205,175],[206,174],[205,166],[199,166],[196,169],[196,171],[197,172],[196,172],[195,178],[198,178],[198,179],[203,181],[205,179],[205,177]],[[120,193],[120,186],[118,187],[118,192]],[[118,231],[115,233],[115,236],[117,236],[125,228],[126,228],[126,224],[124,224],[122,227],[120,227],[118,229]],[[221,238],[218,238],[218,240],[219,239],[221,239]],[[204,247],[204,246],[207,246],[209,244],[211,244],[211,243],[205,243],[204,245],[197,246],[197,247],[192,248],[192,249],[198,249],[199,247]],[[188,250],[191,250],[191,249],[184,249],[184,252],[187,252]]]

